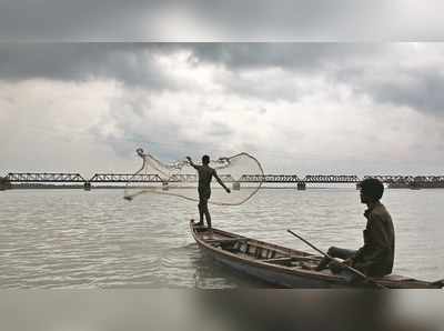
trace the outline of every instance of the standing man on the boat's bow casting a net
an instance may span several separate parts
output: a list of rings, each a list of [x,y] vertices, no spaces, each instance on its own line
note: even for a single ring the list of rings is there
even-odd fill
[[[222,180],[219,178],[218,173],[213,168],[209,165],[210,157],[202,157],[202,165],[194,164],[190,157],[186,157],[190,165],[198,170],[199,173],[199,223],[198,225],[203,225],[203,215],[205,214],[206,224],[209,229],[211,229],[211,215],[208,209],[208,201],[211,195],[211,180],[214,177],[216,181],[221,184],[222,188],[225,189],[226,193],[230,193],[230,189],[225,187]]]

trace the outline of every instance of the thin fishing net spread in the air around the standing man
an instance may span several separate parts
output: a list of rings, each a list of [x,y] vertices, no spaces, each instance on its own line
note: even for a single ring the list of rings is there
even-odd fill
[[[142,168],[129,178],[124,199],[132,200],[144,194],[165,194],[199,201],[198,171],[185,158],[163,163],[142,149],[138,149],[137,153],[142,158]],[[193,162],[201,164],[198,160]],[[211,160],[209,165],[231,190],[231,193],[226,193],[213,178],[209,203],[239,205],[251,199],[262,185],[264,173],[261,163],[249,153],[242,152]]]

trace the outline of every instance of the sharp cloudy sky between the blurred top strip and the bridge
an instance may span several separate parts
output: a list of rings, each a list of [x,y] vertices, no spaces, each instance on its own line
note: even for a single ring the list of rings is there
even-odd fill
[[[442,173],[441,43],[1,43],[1,171],[250,152],[268,172]]]

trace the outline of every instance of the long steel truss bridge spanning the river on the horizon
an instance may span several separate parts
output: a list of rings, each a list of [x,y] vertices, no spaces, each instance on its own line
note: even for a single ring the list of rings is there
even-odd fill
[[[299,189],[305,189],[307,183],[359,183],[365,178],[377,178],[393,188],[444,188],[444,175],[364,175],[354,174],[307,174],[303,178],[296,174],[243,174],[235,180],[230,174],[221,174],[225,182],[239,183],[295,183]],[[0,190],[10,189],[12,183],[70,183],[83,184],[85,189],[93,183],[165,183],[165,182],[196,182],[198,175],[173,174],[161,178],[159,174],[130,173],[95,173],[84,178],[80,173],[63,172],[10,172],[0,177]]]

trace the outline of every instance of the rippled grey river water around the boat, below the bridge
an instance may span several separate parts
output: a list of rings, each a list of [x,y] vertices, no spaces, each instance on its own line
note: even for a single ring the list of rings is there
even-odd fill
[[[121,190],[0,192],[0,288],[266,288],[204,257],[189,231],[196,205]],[[395,273],[444,278],[444,190],[387,189],[396,231]],[[210,205],[213,227],[310,251],[362,244],[365,205],[350,187],[261,189],[239,207]]]

